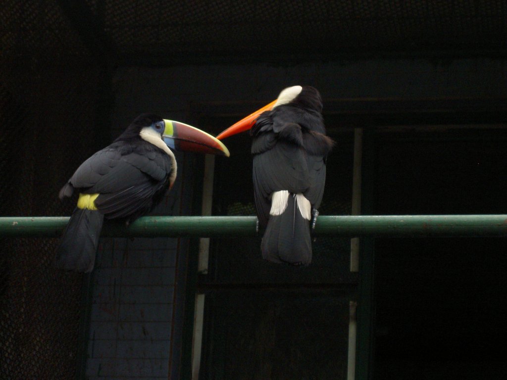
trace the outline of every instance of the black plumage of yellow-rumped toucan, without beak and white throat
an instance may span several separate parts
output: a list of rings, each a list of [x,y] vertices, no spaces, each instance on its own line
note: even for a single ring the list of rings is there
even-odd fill
[[[60,199],[75,190],[98,196],[96,210],[76,208],[71,216],[57,250],[58,268],[90,272],[103,218],[131,222],[152,210],[172,185],[174,156],[139,134],[159,121],[156,115],[137,117],[111,145],[83,162],[62,187]]]

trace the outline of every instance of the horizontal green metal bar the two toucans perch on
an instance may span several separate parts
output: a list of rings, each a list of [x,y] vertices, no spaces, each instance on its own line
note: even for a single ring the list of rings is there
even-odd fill
[[[0,237],[58,237],[68,216],[0,217]],[[255,236],[255,216],[143,216],[127,226],[106,221],[102,236]],[[315,232],[342,236],[507,237],[507,214],[319,216]]]

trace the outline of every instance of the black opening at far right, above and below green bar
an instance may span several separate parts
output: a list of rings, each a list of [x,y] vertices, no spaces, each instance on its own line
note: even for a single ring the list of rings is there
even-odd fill
[[[507,131],[383,133],[379,214],[505,213]],[[375,378],[507,373],[505,240],[377,239]]]

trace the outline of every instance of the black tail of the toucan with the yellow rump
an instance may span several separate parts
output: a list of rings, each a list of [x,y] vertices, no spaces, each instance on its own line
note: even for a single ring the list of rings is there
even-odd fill
[[[104,215],[76,208],[70,217],[56,252],[56,267],[67,271],[91,272]]]

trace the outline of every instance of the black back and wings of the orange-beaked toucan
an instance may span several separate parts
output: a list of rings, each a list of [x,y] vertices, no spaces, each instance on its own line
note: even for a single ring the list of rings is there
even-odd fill
[[[313,207],[320,205],[325,183],[325,156],[332,140],[309,130],[308,124],[312,122],[317,124],[318,130],[324,130],[321,122],[316,123],[311,118],[273,110],[263,113],[252,128],[253,184],[261,225],[267,224],[273,192],[303,193]]]

